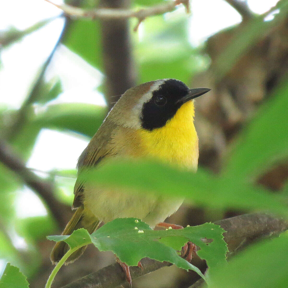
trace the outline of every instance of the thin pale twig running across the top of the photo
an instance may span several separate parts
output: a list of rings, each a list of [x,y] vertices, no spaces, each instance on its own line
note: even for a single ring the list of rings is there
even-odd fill
[[[140,9],[138,11],[135,11],[134,9],[105,9],[105,8],[85,10],[67,4],[58,5],[50,0],[45,1],[63,10],[65,14],[77,18],[80,17],[80,18],[102,19],[102,20],[127,19],[131,17],[137,18],[138,24],[134,28],[134,31],[137,30],[139,24],[145,18],[149,16],[164,14],[166,12],[172,12],[175,10],[175,7],[177,5],[183,4],[186,8],[186,11],[189,12],[189,0],[166,1],[166,3],[161,3],[152,7],[147,7],[145,9]]]

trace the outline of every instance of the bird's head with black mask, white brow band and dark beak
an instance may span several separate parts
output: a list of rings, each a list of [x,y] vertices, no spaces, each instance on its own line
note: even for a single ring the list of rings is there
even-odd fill
[[[152,131],[164,127],[185,105],[189,105],[187,113],[194,116],[193,99],[208,91],[208,88],[189,89],[176,79],[147,82],[127,90],[109,118],[124,127]]]

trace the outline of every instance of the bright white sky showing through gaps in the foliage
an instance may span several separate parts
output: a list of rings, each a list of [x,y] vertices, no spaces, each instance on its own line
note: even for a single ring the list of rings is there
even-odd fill
[[[247,2],[253,12],[262,14],[274,6],[277,0]],[[55,3],[59,1],[55,0]],[[190,42],[193,46],[203,43],[210,35],[241,20],[240,15],[223,0],[191,0],[191,10],[193,14],[190,17]],[[44,0],[2,1],[0,31],[10,26],[25,29],[59,13],[56,7]],[[63,20],[56,19],[22,41],[1,50],[0,105],[20,107],[40,65],[53,49],[62,25]],[[46,73],[47,79],[56,75],[61,79],[64,92],[53,103],[82,102],[105,105],[103,96],[95,90],[103,79],[101,73],[62,45],[54,54]],[[77,158],[87,143],[87,139],[48,129],[42,130],[27,165],[43,171],[75,168]],[[16,210],[18,217],[46,215],[43,204],[28,188],[19,193]],[[23,240],[16,236],[13,238],[16,246],[24,247]]]

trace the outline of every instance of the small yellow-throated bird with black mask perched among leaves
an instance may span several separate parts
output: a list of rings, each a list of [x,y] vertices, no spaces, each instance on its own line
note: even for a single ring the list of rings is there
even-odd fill
[[[102,165],[118,156],[151,157],[196,172],[199,149],[194,126],[194,99],[209,91],[209,88],[189,89],[176,79],[150,81],[128,89],[80,155],[78,173],[83,168]],[[164,223],[179,209],[183,200],[153,194],[135,197],[123,189],[96,187],[77,179],[72,204],[76,211],[62,235],[70,235],[82,227],[91,234],[101,222],[125,217],[142,219],[151,228],[183,228]],[[85,248],[75,251],[66,264],[74,262]],[[65,242],[57,242],[50,256],[52,263],[59,262],[68,249]],[[129,267],[118,262],[131,286]]]

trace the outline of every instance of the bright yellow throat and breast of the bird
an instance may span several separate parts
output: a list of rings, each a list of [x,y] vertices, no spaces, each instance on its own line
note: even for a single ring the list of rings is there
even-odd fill
[[[189,101],[164,127],[152,131],[138,130],[145,154],[196,170],[199,152],[193,120],[194,103]]]

